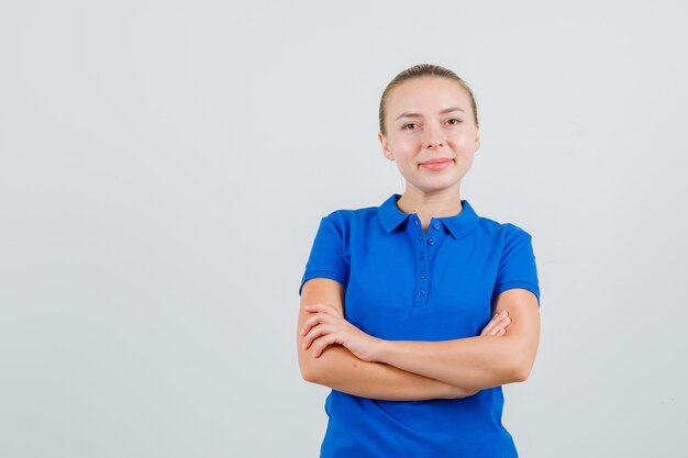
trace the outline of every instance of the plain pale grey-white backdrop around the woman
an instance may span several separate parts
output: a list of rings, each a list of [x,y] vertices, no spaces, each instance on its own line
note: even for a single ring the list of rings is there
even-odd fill
[[[462,193],[533,236],[523,457],[688,456],[688,3],[0,3],[0,456],[314,457],[298,286],[402,181],[377,104],[473,87]]]

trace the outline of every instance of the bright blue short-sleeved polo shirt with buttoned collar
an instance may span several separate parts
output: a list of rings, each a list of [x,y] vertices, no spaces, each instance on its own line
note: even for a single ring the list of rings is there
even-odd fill
[[[329,278],[345,288],[345,317],[390,340],[476,336],[491,301],[523,288],[540,301],[531,236],[513,224],[459,214],[435,217],[428,233],[397,208],[340,210],[323,217],[303,283]],[[379,401],[332,390],[321,457],[517,457],[501,424],[501,387],[457,400]]]

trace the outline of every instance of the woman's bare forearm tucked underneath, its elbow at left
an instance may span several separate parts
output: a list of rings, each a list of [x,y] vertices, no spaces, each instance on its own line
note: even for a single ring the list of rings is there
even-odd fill
[[[386,364],[362,361],[341,346],[329,347],[319,358],[301,350],[299,362],[306,380],[362,398],[423,401],[473,394],[473,391]]]

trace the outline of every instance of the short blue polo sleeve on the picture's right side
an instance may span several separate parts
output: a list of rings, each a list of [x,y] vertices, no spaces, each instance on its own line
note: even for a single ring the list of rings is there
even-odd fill
[[[535,294],[537,304],[540,304],[540,286],[532,237],[520,227],[513,225],[510,225],[510,227],[513,230],[506,237],[495,289],[492,290],[492,299],[503,291],[523,288]]]

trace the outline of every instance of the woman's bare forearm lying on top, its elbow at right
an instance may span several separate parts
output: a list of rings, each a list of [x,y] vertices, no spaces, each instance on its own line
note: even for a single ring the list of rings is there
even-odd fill
[[[478,336],[444,342],[387,340],[378,360],[452,386],[482,390],[525,380],[533,358],[534,351],[518,339]]]

